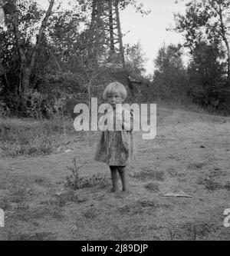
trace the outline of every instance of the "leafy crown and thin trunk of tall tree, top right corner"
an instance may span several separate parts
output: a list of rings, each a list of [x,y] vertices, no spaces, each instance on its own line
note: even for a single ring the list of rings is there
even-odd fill
[[[175,15],[175,30],[184,34],[186,46],[191,50],[202,41],[209,45],[224,42],[228,81],[230,80],[229,16],[229,0],[192,0],[186,4],[185,15]]]

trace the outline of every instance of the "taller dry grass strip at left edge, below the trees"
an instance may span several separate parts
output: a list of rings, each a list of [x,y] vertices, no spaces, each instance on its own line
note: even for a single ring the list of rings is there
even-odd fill
[[[66,120],[65,129],[69,135],[74,134],[71,120]],[[0,119],[1,157],[50,155],[68,142],[59,120]]]

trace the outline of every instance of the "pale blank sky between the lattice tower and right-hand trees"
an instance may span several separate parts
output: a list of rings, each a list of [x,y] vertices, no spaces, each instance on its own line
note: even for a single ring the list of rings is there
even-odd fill
[[[36,0],[36,2],[44,8],[48,8],[48,0]],[[63,0],[63,2],[64,5],[67,5],[68,0]],[[143,3],[144,9],[150,9],[152,12],[149,15],[142,16],[135,12],[133,6],[120,12],[121,29],[123,34],[126,34],[123,37],[123,43],[132,45],[140,42],[143,53],[148,59],[146,74],[153,74],[153,59],[156,58],[157,52],[163,43],[169,45],[170,43],[182,42],[182,35],[166,31],[166,28],[169,28],[170,24],[175,24],[173,13],[185,12],[185,4],[181,0],[137,0],[137,2]]]

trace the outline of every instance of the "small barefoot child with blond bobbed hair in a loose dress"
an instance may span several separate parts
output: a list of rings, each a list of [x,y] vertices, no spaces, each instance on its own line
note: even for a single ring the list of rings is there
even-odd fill
[[[104,90],[103,98],[112,106],[112,108],[107,111],[107,120],[110,121],[110,116],[113,118],[113,131],[110,131],[110,129],[102,131],[100,141],[97,145],[95,160],[105,162],[110,166],[113,185],[112,192],[118,190],[119,173],[123,186],[122,190],[128,193],[129,181],[126,173],[126,165],[130,164],[130,160],[134,155],[133,111],[128,111],[121,106],[126,95],[126,88],[118,81],[110,83]],[[122,118],[116,115],[116,112],[118,113],[119,110],[123,113]],[[124,115],[125,112],[126,115]],[[124,116],[129,116],[130,121],[129,118],[127,118],[127,121]],[[118,128],[117,131],[116,128]]]

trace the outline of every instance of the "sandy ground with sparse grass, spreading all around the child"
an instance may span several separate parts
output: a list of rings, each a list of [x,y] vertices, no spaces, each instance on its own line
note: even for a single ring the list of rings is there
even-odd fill
[[[108,167],[93,160],[98,134],[77,133],[69,123],[64,138],[51,122],[2,121],[0,240],[229,240],[229,118],[167,108],[157,114],[154,140],[135,134],[126,198],[110,193]],[[14,153],[15,145],[24,149]],[[82,165],[76,190],[67,187],[74,158],[75,169]]]

